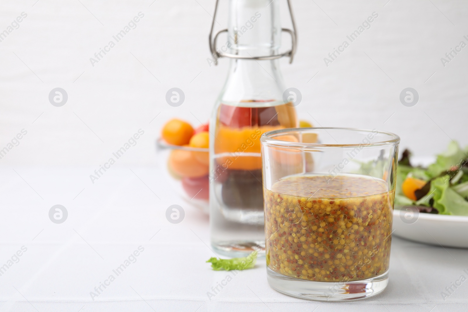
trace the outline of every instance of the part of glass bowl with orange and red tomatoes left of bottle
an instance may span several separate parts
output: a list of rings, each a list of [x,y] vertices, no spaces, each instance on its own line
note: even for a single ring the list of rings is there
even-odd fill
[[[166,164],[169,180],[179,195],[208,213],[209,126],[193,128],[190,123],[171,119],[156,141],[158,158]]]

